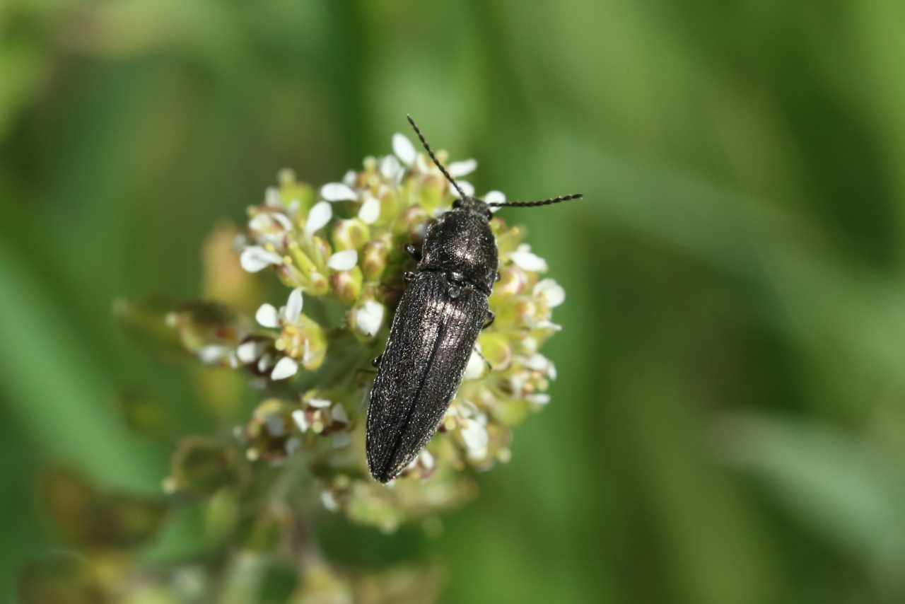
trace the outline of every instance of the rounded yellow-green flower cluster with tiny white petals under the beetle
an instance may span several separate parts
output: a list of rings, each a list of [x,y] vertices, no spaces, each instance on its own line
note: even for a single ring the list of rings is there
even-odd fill
[[[168,319],[199,360],[243,371],[265,393],[236,432],[248,460],[280,465],[301,455],[324,507],[386,531],[461,504],[475,492],[469,468],[509,460],[511,428],[548,403],[556,369],[539,350],[560,329],[551,312],[565,299],[541,276],[547,263],[522,242],[523,229],[494,216],[500,280],[489,302],[496,321],[481,332],[431,443],[394,484],[371,480],[364,455],[369,361],[383,349],[403,274],[414,269],[405,246],[420,247],[455,198],[404,135],[394,136],[393,149],[318,190],[283,170],[278,186],[249,207],[234,250],[246,273],[271,273],[286,287],[279,307],[264,303],[252,319],[196,303]],[[446,163],[443,151],[437,156]],[[473,159],[448,164],[457,178],[476,167]],[[499,191],[483,198],[505,201]]]

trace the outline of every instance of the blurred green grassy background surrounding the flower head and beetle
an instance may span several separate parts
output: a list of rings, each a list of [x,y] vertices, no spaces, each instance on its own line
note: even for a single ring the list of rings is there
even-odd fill
[[[449,602],[905,601],[903,32],[883,0],[0,0],[0,599],[54,547],[43,464],[159,492],[119,388],[201,426],[112,301],[196,297],[278,168],[335,181],[411,112],[478,191],[585,194],[505,210],[567,291],[559,378],[439,539],[328,550],[443,560]]]

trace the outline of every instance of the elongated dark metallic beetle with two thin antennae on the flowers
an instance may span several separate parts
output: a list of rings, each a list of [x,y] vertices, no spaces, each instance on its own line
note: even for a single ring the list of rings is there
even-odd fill
[[[418,262],[405,273],[408,287],[396,309],[367,407],[367,465],[388,483],[412,463],[449,408],[481,330],[493,322],[488,306],[498,278],[499,254],[491,207],[547,206],[581,195],[543,201],[486,203],[464,194],[406,115],[433,163],[459,194],[452,210],[427,230]]]

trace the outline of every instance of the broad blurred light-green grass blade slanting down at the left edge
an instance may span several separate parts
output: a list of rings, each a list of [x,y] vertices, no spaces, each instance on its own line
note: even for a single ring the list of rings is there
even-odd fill
[[[2,244],[0,309],[0,394],[33,442],[106,487],[158,490],[152,452],[107,405],[100,369]]]

